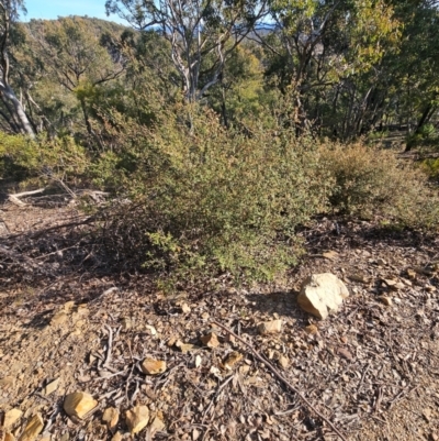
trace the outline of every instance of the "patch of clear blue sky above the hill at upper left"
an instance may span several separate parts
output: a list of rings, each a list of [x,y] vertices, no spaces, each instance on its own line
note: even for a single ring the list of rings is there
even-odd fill
[[[31,19],[56,19],[66,15],[88,15],[121,23],[116,15],[105,14],[105,0],[24,0],[27,9],[23,21]]]

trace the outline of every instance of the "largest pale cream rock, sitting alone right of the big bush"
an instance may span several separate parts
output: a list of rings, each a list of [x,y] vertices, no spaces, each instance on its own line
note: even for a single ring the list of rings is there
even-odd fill
[[[313,274],[302,284],[297,302],[303,310],[324,320],[328,313],[336,312],[348,296],[348,288],[334,274]]]

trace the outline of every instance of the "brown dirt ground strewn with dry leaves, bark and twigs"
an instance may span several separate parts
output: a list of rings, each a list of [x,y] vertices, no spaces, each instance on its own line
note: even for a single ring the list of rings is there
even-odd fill
[[[97,257],[86,227],[75,243],[71,228],[49,230],[85,219],[63,205],[0,206],[0,415],[22,411],[0,441],[342,439],[328,421],[345,440],[439,440],[439,238],[319,219],[275,284],[218,278],[215,290],[165,295],[150,276],[87,265]],[[327,272],[350,296],[318,321],[296,297],[307,275]],[[280,332],[258,332],[279,319]],[[217,341],[203,344],[210,332]],[[147,357],[164,372],[145,374]],[[74,392],[98,401],[83,419],[64,409]],[[133,436],[136,405],[149,423]],[[35,415],[43,427],[26,438]]]

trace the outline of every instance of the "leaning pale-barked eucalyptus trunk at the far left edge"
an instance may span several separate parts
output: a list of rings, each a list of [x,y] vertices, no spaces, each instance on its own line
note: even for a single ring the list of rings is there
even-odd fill
[[[25,11],[22,0],[0,1],[0,98],[3,103],[0,115],[7,121],[13,133],[23,133],[34,137],[34,128],[10,82],[10,51],[20,11]]]

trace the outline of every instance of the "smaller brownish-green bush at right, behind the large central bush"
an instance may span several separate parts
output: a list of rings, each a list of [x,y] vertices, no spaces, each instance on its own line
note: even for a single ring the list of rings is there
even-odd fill
[[[428,187],[421,170],[399,162],[394,152],[362,143],[325,144],[320,155],[336,183],[329,196],[335,211],[359,216],[379,212],[408,227],[437,228],[437,192]]]

